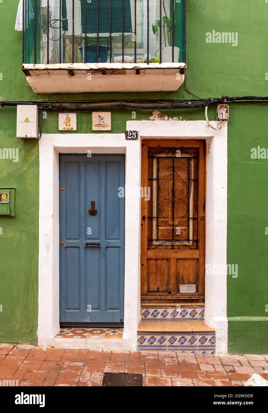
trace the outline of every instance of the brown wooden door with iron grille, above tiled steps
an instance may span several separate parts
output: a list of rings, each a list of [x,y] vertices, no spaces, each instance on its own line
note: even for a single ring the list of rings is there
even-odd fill
[[[141,300],[201,302],[205,141],[143,140],[141,171]]]

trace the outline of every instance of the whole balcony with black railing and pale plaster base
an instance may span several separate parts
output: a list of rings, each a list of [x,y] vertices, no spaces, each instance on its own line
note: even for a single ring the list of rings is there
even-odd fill
[[[24,0],[23,65],[35,93],[175,91],[185,0]]]

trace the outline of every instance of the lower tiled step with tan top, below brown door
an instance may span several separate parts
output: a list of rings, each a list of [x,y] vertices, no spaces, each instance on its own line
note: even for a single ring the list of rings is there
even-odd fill
[[[204,321],[141,321],[137,332],[139,351],[178,351],[213,354],[216,332]]]

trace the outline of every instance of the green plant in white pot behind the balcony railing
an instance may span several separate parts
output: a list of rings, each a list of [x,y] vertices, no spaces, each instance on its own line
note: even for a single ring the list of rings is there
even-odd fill
[[[175,24],[177,23],[176,17],[173,16],[169,18],[167,17],[167,12],[166,12],[166,7],[165,7],[165,0],[163,0],[163,9],[164,9],[164,14],[165,16],[162,17],[162,21],[160,20],[155,20],[155,24],[153,24],[153,34],[156,34],[158,32],[158,29],[161,27],[162,28],[162,62],[172,62],[172,26],[174,27]],[[158,56],[160,56],[159,49],[155,53],[155,55],[158,53]],[[179,47],[174,46],[174,63],[177,63],[179,61],[179,53],[180,49]],[[155,58],[153,59],[155,60]]]

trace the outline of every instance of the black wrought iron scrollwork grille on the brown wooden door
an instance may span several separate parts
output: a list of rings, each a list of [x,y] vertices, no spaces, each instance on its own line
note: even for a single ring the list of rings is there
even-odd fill
[[[198,249],[198,148],[149,148],[148,249]]]

